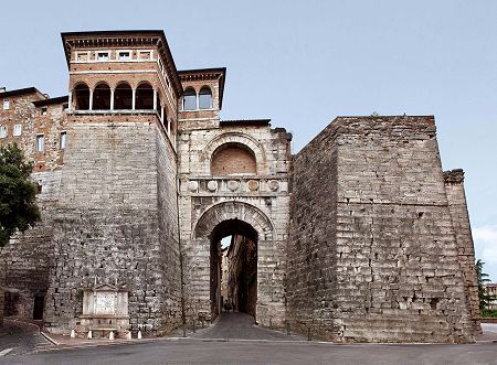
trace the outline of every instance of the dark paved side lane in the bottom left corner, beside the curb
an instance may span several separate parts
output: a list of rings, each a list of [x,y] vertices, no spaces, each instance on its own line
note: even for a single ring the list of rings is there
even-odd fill
[[[0,356],[33,352],[49,342],[40,334],[38,325],[15,320],[3,320],[0,329]]]

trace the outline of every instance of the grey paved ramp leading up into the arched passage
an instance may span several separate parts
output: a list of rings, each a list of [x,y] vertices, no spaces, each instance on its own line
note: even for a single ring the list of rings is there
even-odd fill
[[[221,313],[219,320],[208,329],[200,330],[191,337],[232,340],[302,341],[296,335],[272,331],[255,325],[254,318],[240,312]]]

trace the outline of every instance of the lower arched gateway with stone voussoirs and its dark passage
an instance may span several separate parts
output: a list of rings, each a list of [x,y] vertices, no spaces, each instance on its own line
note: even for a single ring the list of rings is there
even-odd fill
[[[222,247],[226,237],[230,246]],[[283,286],[274,276],[274,226],[267,215],[240,201],[214,204],[194,224],[191,241],[193,247],[209,248],[209,275],[190,278],[192,287],[204,281],[203,300],[197,301],[202,309],[199,314],[212,320],[228,304],[264,322],[265,316],[258,314],[275,299],[268,288]]]

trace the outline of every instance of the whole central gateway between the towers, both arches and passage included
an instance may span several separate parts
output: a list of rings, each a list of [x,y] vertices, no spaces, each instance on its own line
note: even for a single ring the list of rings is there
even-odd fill
[[[178,154],[187,321],[213,320],[226,303],[261,325],[283,326],[290,136],[268,120],[211,122],[181,121],[188,146]]]

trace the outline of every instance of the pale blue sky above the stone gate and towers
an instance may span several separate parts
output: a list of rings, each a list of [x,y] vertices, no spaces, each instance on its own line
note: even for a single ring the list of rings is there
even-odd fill
[[[223,119],[271,118],[298,152],[337,116],[434,115],[497,282],[497,1],[8,1],[0,86],[67,94],[60,33],[159,29],[178,69],[228,67]]]

